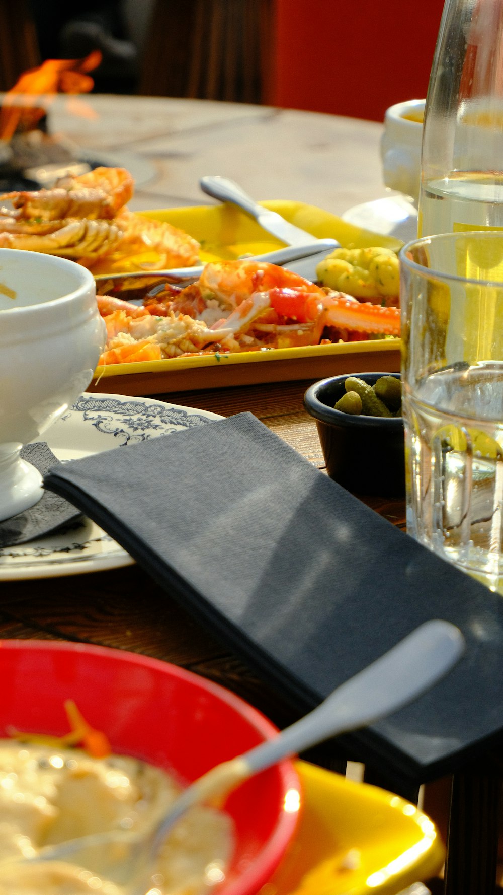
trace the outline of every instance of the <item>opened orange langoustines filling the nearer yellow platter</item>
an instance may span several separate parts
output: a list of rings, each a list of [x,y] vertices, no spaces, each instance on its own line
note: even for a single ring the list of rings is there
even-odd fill
[[[256,261],[207,264],[197,283],[143,307],[98,298],[107,344],[100,362],[162,360],[208,351],[317,345],[371,334],[398,336],[397,308],[361,303],[284,268]]]

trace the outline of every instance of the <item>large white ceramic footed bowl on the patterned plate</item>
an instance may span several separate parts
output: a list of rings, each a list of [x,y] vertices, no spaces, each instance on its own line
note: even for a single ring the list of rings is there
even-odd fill
[[[0,249],[0,520],[42,497],[42,477],[21,460],[21,447],[88,387],[104,345],[87,268]]]

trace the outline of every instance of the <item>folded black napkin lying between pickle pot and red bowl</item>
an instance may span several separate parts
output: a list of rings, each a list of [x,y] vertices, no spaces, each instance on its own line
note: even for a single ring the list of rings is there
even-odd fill
[[[499,596],[251,413],[56,466],[45,484],[300,710],[423,621],[458,625],[465,658],[414,706],[348,737],[359,760],[424,780],[425,768],[449,768],[448,756],[501,727]]]

